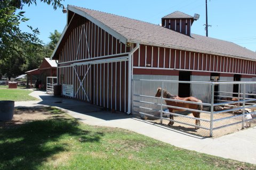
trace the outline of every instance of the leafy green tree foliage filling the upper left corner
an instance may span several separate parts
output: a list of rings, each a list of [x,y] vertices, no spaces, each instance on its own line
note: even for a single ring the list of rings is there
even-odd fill
[[[53,9],[61,7],[63,0],[39,0],[53,6]],[[27,57],[30,50],[42,48],[42,41],[37,37],[39,30],[28,26],[31,33],[23,33],[20,28],[20,22],[26,22],[27,19],[22,10],[23,5],[35,4],[36,0],[0,0],[0,75],[6,72],[8,63],[14,62],[14,58]],[[11,62],[12,61],[12,62]],[[19,62],[21,60],[16,60]],[[6,67],[6,68],[3,68]],[[10,69],[10,68],[9,68]],[[4,71],[5,70],[5,71]],[[1,73],[2,72],[2,73]]]

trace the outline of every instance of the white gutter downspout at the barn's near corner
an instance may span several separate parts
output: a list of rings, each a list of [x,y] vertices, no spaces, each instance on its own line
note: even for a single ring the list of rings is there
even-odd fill
[[[136,47],[132,49],[132,51],[129,53],[129,63],[128,63],[128,110],[127,115],[131,114],[131,85],[132,85],[132,55],[135,51],[137,51],[140,47],[140,44],[137,43]]]

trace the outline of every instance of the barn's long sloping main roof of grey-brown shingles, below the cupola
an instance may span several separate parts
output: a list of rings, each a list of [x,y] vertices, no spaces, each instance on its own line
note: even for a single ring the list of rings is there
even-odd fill
[[[115,14],[68,5],[68,10],[90,17],[126,38],[127,42],[166,46],[181,50],[256,60],[256,53],[235,43],[191,34],[191,37],[162,26]]]

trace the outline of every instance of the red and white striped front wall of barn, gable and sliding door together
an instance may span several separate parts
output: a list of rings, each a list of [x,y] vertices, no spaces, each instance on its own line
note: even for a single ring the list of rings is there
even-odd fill
[[[76,15],[73,20],[74,24],[69,26],[59,45],[59,82],[73,84],[74,98],[77,100],[87,101],[87,95],[89,102],[95,105],[126,112],[128,61],[100,63],[100,60],[128,55],[131,47],[83,17]],[[145,57],[145,51],[143,54]],[[97,58],[98,64],[70,66]],[[148,62],[151,62],[150,58]]]

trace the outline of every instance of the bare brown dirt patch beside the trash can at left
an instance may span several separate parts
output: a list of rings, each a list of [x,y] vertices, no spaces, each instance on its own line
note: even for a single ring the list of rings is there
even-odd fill
[[[12,120],[0,121],[0,128],[58,117],[65,117],[64,111],[52,107],[19,107],[14,109]]]

